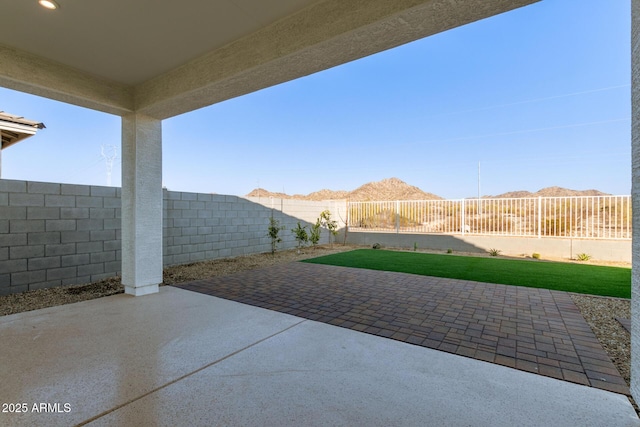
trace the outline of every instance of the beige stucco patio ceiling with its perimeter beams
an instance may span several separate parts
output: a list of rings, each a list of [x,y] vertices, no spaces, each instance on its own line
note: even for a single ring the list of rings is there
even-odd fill
[[[0,86],[165,119],[535,1],[5,1]]]

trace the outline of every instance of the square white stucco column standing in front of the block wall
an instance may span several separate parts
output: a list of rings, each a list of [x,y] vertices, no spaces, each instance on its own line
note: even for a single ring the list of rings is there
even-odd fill
[[[162,282],[162,122],[122,118],[122,283],[135,296]]]

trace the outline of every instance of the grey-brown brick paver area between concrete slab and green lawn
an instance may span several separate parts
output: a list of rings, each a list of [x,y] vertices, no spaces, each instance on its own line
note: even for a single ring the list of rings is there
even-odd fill
[[[302,262],[177,287],[629,395],[566,292]]]

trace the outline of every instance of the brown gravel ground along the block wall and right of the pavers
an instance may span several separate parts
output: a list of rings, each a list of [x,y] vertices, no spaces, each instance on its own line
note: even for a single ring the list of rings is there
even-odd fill
[[[238,271],[267,267],[285,262],[300,261],[332,253],[357,249],[355,246],[334,245],[307,248],[302,253],[296,250],[241,256],[236,258],[205,261],[168,267],[164,270],[163,285],[184,283],[207,277],[228,275]],[[477,254],[474,254],[477,256]],[[611,265],[607,263],[607,265]],[[124,292],[119,277],[96,283],[60,286],[21,294],[0,296],[0,316],[37,310],[63,304],[85,301]],[[598,340],[623,378],[629,383],[631,371],[630,334],[620,325],[616,317],[631,317],[628,299],[571,294],[574,303],[591,326]]]

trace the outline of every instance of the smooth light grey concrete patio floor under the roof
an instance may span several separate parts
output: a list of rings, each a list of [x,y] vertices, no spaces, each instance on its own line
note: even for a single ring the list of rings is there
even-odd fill
[[[27,406],[3,426],[640,426],[621,394],[172,287],[5,316],[0,342]]]

